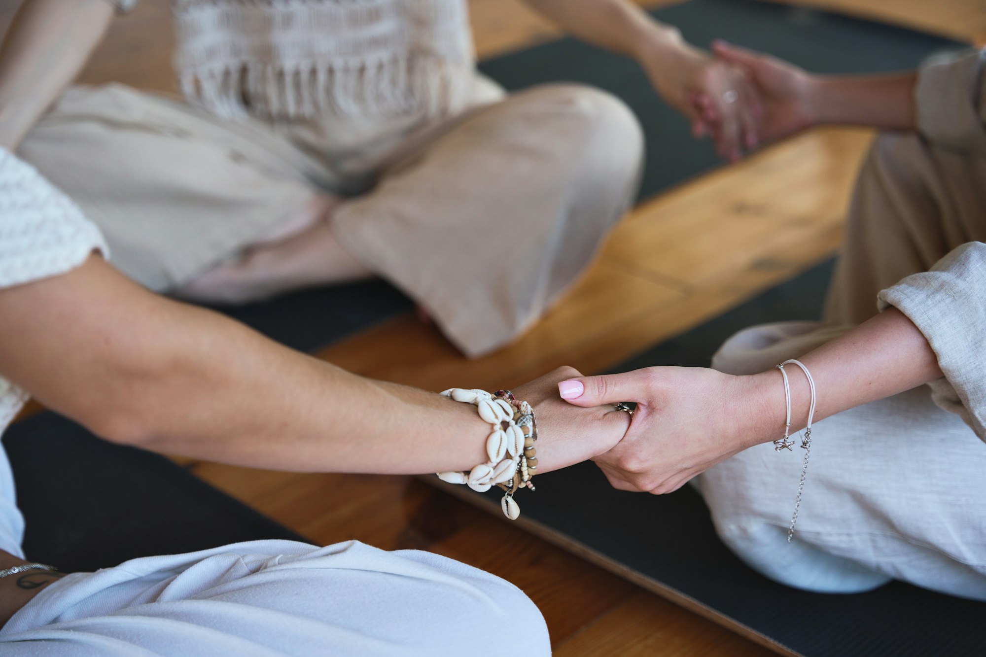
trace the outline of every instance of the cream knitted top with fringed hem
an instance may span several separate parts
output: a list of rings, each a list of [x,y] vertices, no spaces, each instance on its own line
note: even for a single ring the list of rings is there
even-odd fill
[[[136,0],[110,0],[127,10]],[[174,0],[190,103],[224,118],[458,113],[475,56],[465,0]]]

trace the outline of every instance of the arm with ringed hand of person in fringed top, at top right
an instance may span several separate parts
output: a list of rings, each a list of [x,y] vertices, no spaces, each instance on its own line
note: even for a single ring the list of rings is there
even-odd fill
[[[689,45],[678,30],[655,21],[630,0],[527,0],[567,32],[636,59],[668,104],[711,133],[719,154],[737,159],[758,141],[757,98],[739,68]],[[708,99],[703,111],[695,96]]]

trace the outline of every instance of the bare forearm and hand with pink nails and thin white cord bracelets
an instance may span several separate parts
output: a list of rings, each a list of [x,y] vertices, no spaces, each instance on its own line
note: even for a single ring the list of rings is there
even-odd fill
[[[924,334],[892,308],[800,360],[817,388],[816,420],[942,376]],[[789,376],[794,432],[807,421],[810,391],[800,370],[791,367]],[[626,437],[596,460],[610,482],[626,490],[670,492],[784,430],[784,388],[776,369],[733,376],[701,367],[652,367],[562,382],[559,389],[578,405],[639,403]]]

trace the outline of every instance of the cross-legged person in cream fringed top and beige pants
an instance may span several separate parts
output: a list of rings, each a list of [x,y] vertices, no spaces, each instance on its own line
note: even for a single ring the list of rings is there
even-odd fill
[[[179,0],[187,104],[62,93],[111,1],[25,2],[0,56],[0,145],[152,290],[238,303],[378,274],[475,356],[529,328],[634,198],[630,110],[572,84],[508,96],[476,71],[465,0]],[[755,141],[738,70],[629,0],[528,2],[635,57],[696,129],[706,92],[725,155]]]

